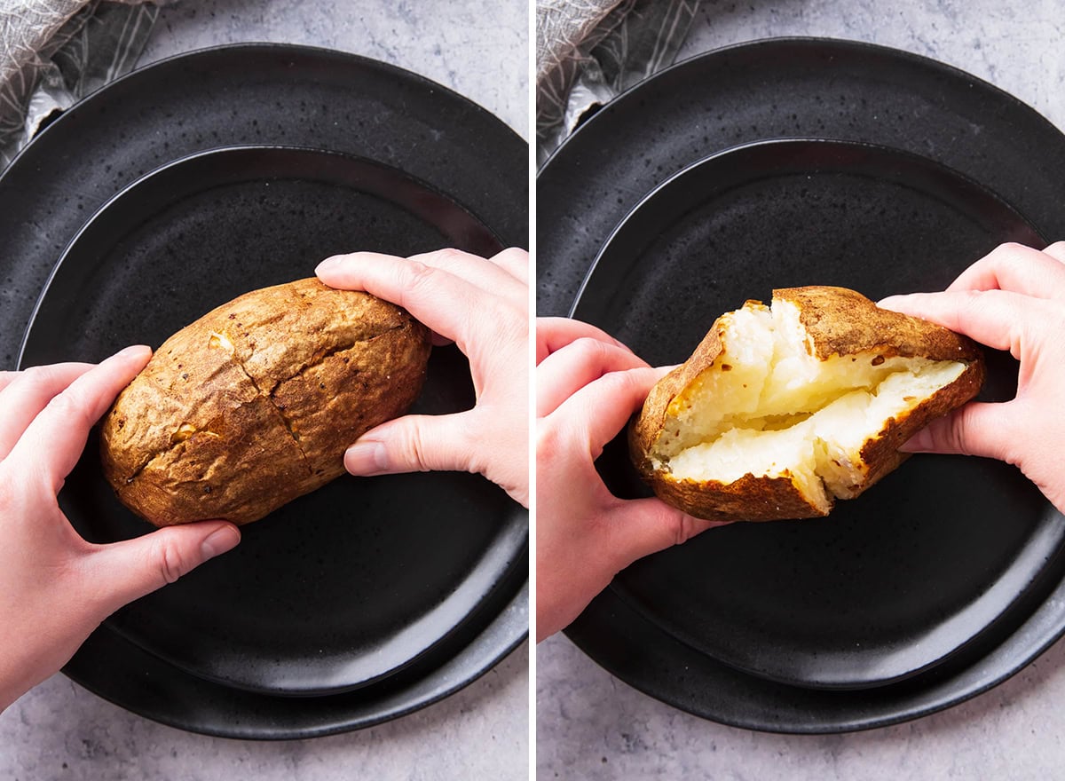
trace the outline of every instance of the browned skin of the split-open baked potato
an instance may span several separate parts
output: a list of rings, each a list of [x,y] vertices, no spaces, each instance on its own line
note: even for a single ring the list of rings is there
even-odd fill
[[[862,448],[867,467],[856,497],[891,472],[908,454],[899,446],[928,425],[980,392],[985,376],[983,355],[974,342],[943,326],[918,318],[880,309],[861,293],[846,288],[805,287],[773,291],[773,299],[790,300],[812,337],[815,355],[824,360],[833,355],[875,351],[884,357],[924,357],[956,360],[968,368],[949,386],[941,388],[908,414],[892,418]],[[718,481],[676,479],[658,472],[648,457],[666,420],[666,410],[675,396],[717,360],[722,349],[724,325],[719,318],[692,356],[662,377],[651,389],[639,417],[629,426],[629,454],[640,475],[668,504],[697,518],[712,521],[770,521],[825,516],[803,498],[787,477],[743,475],[724,484]]]

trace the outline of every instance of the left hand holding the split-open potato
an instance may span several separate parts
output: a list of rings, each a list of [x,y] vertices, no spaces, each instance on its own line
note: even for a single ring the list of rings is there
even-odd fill
[[[594,326],[537,321],[537,641],[567,627],[638,558],[720,522],[615,497],[594,461],[666,370]]]

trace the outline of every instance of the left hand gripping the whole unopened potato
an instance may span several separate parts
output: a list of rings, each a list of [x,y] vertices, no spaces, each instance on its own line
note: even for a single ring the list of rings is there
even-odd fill
[[[116,609],[240,541],[232,524],[203,521],[94,544],[59,507],[93,423],[150,355],[129,347],[95,367],[0,372],[0,711]]]

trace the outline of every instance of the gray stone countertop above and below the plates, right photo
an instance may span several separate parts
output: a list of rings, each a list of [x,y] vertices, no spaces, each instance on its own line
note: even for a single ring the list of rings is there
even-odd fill
[[[867,40],[967,70],[1065,128],[1063,25],[1060,0],[704,0],[679,58],[782,35]],[[1061,778],[1063,711],[1065,642],[948,711],[829,736],[723,727],[636,691],[560,635],[537,648],[541,779]]]

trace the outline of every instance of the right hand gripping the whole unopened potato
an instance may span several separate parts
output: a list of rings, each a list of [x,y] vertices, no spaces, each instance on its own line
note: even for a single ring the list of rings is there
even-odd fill
[[[392,302],[454,341],[477,396],[473,409],[408,414],[366,432],[344,454],[347,471],[479,472],[528,507],[528,254],[355,253],[326,259],[315,273],[330,287]]]

